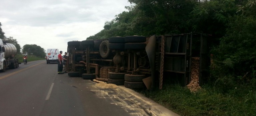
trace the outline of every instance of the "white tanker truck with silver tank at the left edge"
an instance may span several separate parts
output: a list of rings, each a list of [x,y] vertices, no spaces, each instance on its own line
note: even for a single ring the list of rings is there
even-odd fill
[[[6,68],[15,69],[19,67],[19,61],[14,55],[17,48],[11,43],[5,43],[0,39],[0,70],[5,71]]]

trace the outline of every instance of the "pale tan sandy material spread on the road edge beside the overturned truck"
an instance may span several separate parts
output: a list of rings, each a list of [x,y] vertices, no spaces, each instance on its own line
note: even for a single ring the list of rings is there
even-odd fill
[[[93,85],[95,89],[91,91],[94,91],[100,98],[111,99],[111,104],[121,106],[133,116],[179,116],[132,89],[98,80],[93,81],[96,84]]]

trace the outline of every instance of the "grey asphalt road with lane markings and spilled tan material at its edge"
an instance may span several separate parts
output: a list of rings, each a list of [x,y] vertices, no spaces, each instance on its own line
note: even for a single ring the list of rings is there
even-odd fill
[[[96,81],[97,82],[97,81]],[[1,116],[171,116],[177,115],[131,89],[95,83],[45,60],[0,73]]]

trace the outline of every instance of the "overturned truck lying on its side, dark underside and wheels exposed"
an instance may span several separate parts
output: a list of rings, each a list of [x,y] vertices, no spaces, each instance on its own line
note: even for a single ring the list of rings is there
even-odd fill
[[[190,82],[192,34],[110,37],[68,42],[68,75],[128,88]]]

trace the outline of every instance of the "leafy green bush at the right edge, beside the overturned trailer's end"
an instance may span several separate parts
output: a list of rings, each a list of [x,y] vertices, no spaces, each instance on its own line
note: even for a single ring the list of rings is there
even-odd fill
[[[229,86],[250,83],[255,79],[255,30],[256,18],[230,17],[226,36],[220,39],[219,46],[211,50],[214,54],[211,76],[217,80],[215,85],[222,84],[223,88],[228,89]]]

